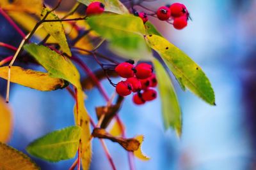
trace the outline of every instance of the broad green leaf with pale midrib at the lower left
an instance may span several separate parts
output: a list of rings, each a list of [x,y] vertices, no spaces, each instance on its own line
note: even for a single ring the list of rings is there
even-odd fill
[[[81,127],[71,126],[36,139],[26,150],[35,157],[51,162],[72,159],[76,155],[80,137]]]

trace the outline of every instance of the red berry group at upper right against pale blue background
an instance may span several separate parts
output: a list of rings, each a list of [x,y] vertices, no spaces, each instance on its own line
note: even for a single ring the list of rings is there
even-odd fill
[[[148,21],[146,13],[134,11],[134,15],[140,17],[144,24]],[[155,14],[159,20],[170,21],[175,29],[184,29],[188,25],[189,13],[184,4],[174,3],[170,6],[161,6]]]

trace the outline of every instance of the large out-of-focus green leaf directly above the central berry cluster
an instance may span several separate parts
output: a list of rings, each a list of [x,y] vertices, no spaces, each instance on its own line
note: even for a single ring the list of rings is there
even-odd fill
[[[117,55],[128,59],[152,59],[143,38],[145,27],[139,17],[104,14],[88,18],[88,24],[109,41],[109,48]]]

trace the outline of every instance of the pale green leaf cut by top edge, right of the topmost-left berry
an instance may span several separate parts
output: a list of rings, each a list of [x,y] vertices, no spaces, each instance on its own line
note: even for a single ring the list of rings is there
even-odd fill
[[[127,8],[118,0],[77,0],[80,3],[85,4],[88,6],[92,2],[100,2],[105,5],[105,11],[113,12],[113,13],[119,13],[119,14],[125,14],[129,13]]]

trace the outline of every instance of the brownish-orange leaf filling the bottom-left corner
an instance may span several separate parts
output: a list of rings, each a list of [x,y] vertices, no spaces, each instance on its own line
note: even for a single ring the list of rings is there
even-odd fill
[[[0,142],[0,169],[36,170],[40,168],[24,153]]]

